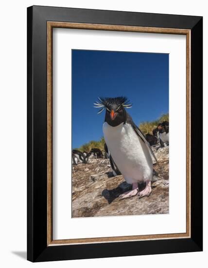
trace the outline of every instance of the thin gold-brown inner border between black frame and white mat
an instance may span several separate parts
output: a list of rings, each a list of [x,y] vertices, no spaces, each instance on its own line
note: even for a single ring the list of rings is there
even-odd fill
[[[155,34],[186,35],[186,232],[153,235],[79,238],[52,238],[52,29],[88,29]],[[72,22],[47,22],[47,245],[108,243],[122,241],[173,239],[191,237],[191,30]]]

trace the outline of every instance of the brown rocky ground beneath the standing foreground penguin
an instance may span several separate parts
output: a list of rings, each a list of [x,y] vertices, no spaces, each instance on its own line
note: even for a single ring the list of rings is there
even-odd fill
[[[113,176],[108,159],[79,163],[72,170],[72,217],[169,213],[169,147],[153,148],[160,167],[154,165],[152,193],[139,199],[119,200],[132,185],[122,175]],[[143,189],[144,185],[139,185]]]

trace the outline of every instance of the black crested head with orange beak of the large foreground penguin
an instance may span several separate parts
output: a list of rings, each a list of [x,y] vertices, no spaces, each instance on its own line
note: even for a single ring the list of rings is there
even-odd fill
[[[129,103],[126,97],[99,97],[100,102],[94,103],[95,108],[101,108],[98,114],[105,111],[105,122],[110,126],[116,127],[122,122],[126,121],[126,110],[125,108],[131,108],[132,104]]]

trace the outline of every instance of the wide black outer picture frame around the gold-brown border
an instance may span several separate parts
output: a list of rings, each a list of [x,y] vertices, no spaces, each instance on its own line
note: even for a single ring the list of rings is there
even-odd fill
[[[190,238],[47,245],[47,21],[191,30]],[[27,9],[27,48],[27,259],[41,262],[202,251],[203,18],[31,6]]]

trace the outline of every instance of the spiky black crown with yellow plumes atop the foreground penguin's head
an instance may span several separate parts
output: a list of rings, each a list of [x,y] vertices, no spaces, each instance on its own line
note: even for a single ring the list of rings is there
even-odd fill
[[[102,113],[104,109],[107,109],[108,111],[111,110],[119,110],[120,107],[122,106],[123,108],[131,108],[132,104],[129,103],[129,100],[124,97],[99,97],[98,98],[99,102],[97,101],[94,103],[95,108],[101,108],[98,114]]]

